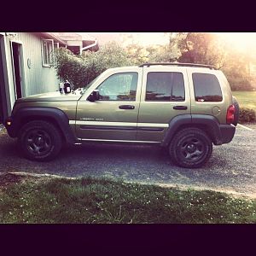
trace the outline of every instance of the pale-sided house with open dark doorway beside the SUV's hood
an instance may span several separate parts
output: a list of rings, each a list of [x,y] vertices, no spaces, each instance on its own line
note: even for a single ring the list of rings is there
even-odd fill
[[[0,32],[0,123],[16,99],[59,90],[54,49],[66,47],[77,53],[98,49],[95,38],[64,34],[66,38],[53,32]]]

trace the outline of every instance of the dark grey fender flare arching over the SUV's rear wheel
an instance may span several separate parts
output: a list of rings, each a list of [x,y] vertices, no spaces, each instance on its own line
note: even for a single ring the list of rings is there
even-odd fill
[[[207,134],[209,134],[209,136],[212,138],[212,142],[215,145],[221,145],[223,143],[218,119],[207,114],[182,114],[171,119],[169,128],[166,131],[166,135],[161,143],[161,146],[168,146],[177,131],[180,131],[180,128],[184,125],[186,127],[203,125],[203,127],[207,128]]]

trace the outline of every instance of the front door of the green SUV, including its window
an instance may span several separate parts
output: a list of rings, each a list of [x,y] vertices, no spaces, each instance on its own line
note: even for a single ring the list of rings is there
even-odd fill
[[[107,71],[78,102],[76,133],[82,140],[135,141],[142,69]],[[93,90],[100,99],[88,101]]]

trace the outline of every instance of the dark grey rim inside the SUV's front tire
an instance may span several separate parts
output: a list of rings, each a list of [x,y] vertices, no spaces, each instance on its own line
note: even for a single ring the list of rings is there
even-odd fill
[[[27,150],[34,155],[48,154],[52,148],[52,140],[48,132],[42,129],[33,129],[26,134],[25,143]]]

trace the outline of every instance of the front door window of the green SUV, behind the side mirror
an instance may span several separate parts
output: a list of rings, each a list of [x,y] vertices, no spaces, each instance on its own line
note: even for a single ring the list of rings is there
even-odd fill
[[[137,73],[116,73],[99,85],[102,101],[135,101]]]

